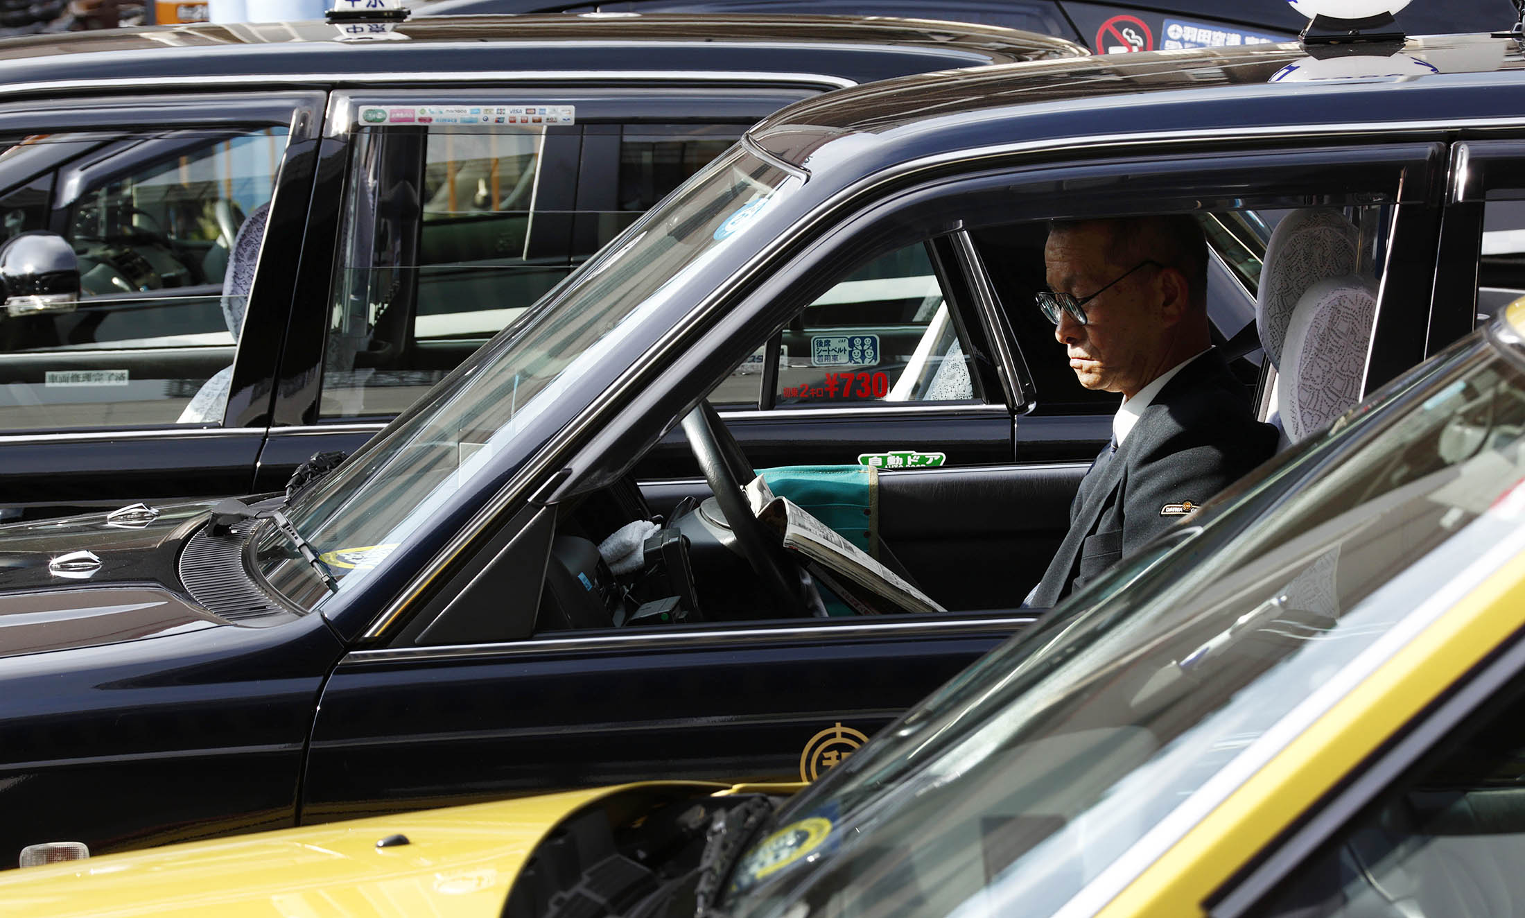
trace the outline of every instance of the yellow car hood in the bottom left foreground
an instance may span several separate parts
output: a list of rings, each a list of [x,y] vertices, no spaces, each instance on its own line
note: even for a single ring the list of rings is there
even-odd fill
[[[535,845],[573,811],[653,782],[189,842],[0,874],[0,913],[35,918],[499,918]],[[377,848],[393,834],[407,845]]]

